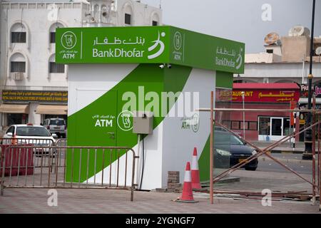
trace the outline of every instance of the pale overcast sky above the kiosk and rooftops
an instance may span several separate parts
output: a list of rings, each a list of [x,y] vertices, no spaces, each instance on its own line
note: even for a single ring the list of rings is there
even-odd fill
[[[44,1],[59,0],[39,2]],[[159,7],[161,2],[163,24],[242,41],[245,43],[247,53],[263,51],[264,37],[272,31],[279,33],[280,36],[286,36],[290,28],[297,24],[311,28],[312,0],[142,0],[141,2],[156,7]],[[267,12],[266,8],[262,9],[263,4],[271,7],[271,21],[262,19],[262,14]],[[316,0],[315,36],[320,35],[321,0]]]

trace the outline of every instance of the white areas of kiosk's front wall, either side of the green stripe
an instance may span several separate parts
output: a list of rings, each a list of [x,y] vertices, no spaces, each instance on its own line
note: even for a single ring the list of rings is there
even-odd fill
[[[69,88],[68,88],[68,115],[76,113],[78,110],[85,108],[101,95],[111,90],[117,83],[128,76],[138,64],[73,64],[69,67]],[[95,71],[93,71],[95,69]],[[88,77],[90,75],[90,77]],[[108,80],[106,80],[108,78]],[[90,84],[90,88],[88,88]],[[84,94],[84,95],[81,95]],[[77,96],[81,95],[81,99]],[[142,189],[154,189],[161,187],[162,175],[162,146],[163,146],[163,123],[153,130],[152,135],[145,138],[146,166],[144,167],[144,178]],[[142,145],[141,145],[142,147]],[[133,150],[138,152],[138,145],[133,147]],[[142,149],[141,149],[142,150]],[[128,153],[128,161],[132,160],[131,153]],[[140,155],[141,156],[141,153]],[[120,167],[125,166],[125,156],[120,159]],[[128,170],[132,169],[131,162],[128,162]],[[136,167],[142,167],[141,162],[136,163]],[[112,165],[112,172],[116,172],[116,165]],[[121,168],[123,170],[123,168]],[[103,182],[109,182],[110,166],[104,169]],[[140,175],[138,175],[140,177]],[[98,172],[96,180],[101,181],[102,172]],[[112,175],[112,183],[116,183],[116,175]],[[166,177],[167,178],[167,177]],[[123,172],[119,173],[120,182],[124,181]],[[88,182],[93,182],[94,177],[91,177]],[[98,181],[98,182],[99,182]],[[127,184],[131,183],[131,172],[127,174]],[[140,183],[140,180],[138,180]]]

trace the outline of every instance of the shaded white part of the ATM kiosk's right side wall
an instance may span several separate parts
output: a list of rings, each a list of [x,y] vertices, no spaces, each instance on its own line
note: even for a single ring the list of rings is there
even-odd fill
[[[208,108],[210,107],[210,91],[215,90],[215,78],[215,71],[193,68],[183,88],[183,93],[199,92],[198,108]],[[180,103],[182,98],[183,96],[180,95],[177,103]],[[170,112],[173,111],[173,108]],[[190,110],[194,109],[191,108]],[[186,162],[192,161],[193,148],[197,148],[198,158],[203,151],[206,140],[210,135],[210,113],[198,112],[198,114],[199,129],[196,133],[192,129],[182,129],[181,117],[166,117],[163,120],[163,187],[167,186],[168,171],[180,171],[180,182],[183,183],[185,165]],[[190,115],[192,113],[185,113],[186,117]],[[190,165],[192,164],[190,163]]]

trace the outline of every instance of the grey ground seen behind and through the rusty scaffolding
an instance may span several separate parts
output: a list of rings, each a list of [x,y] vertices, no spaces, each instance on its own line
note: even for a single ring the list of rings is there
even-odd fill
[[[272,153],[271,155],[297,172],[305,180],[312,182],[312,161],[302,160],[302,154]],[[257,170],[235,170],[229,175],[229,178],[232,180],[235,178],[235,181],[217,183],[215,189],[249,192],[261,192],[268,189],[272,192],[304,191],[312,193],[312,187],[308,182],[286,170],[285,167],[277,164],[266,155],[258,157],[258,160]]]

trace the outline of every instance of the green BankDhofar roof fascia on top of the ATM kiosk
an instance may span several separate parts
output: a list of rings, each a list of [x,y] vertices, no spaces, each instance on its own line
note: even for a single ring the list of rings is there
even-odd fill
[[[245,44],[173,26],[57,28],[56,63],[172,63],[244,73]]]

